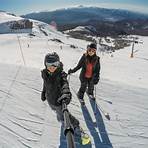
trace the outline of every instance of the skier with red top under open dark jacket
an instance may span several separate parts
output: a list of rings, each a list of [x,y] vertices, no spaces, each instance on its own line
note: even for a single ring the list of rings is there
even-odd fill
[[[87,89],[87,93],[90,98],[94,99],[94,85],[99,82],[100,79],[100,57],[96,55],[97,45],[91,43],[87,46],[87,51],[79,60],[77,66],[68,70],[68,74],[74,73],[81,68],[80,82],[81,86],[78,91],[78,98],[84,103],[83,97]]]

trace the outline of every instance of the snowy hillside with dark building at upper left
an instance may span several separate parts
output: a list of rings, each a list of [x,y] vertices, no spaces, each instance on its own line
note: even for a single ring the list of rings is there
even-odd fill
[[[46,23],[24,19],[7,12],[0,12],[0,34],[5,33],[29,33],[35,36],[60,34],[53,26]]]

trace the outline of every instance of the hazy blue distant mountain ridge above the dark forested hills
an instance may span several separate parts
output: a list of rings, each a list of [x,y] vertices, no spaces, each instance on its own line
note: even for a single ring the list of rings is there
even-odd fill
[[[23,15],[46,23],[51,21],[60,24],[85,23],[89,20],[120,21],[127,19],[147,19],[146,14],[121,9],[107,9],[99,7],[73,7],[55,11],[35,12]]]

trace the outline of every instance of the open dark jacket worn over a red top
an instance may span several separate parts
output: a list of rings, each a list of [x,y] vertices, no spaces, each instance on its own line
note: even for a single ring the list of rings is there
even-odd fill
[[[81,59],[79,60],[77,66],[71,70],[72,73],[76,72],[80,68],[82,68],[80,73],[80,81],[85,80],[85,72],[86,72],[86,64],[87,62],[93,62],[93,74],[92,74],[92,80],[98,81],[100,77],[100,57],[98,57],[96,54],[94,56],[89,56],[87,54],[83,54]]]

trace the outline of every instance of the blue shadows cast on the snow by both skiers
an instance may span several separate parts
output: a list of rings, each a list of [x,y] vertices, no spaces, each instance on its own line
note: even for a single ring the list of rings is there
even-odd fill
[[[95,102],[93,100],[90,100],[90,104],[91,104],[91,107],[92,107],[94,115],[95,115]],[[95,115],[96,123],[94,124],[87,107],[81,106],[81,109],[83,112],[83,116],[84,116],[87,128],[89,129],[90,134],[93,138],[94,147],[95,148],[113,148],[113,146],[109,140],[108,133],[105,129],[104,121],[103,121],[102,115],[100,113],[100,110],[98,108],[96,108],[96,115]],[[66,142],[66,138],[64,136],[63,129],[64,129],[64,127],[63,127],[63,125],[61,125],[59,148],[67,148],[67,142]],[[76,144],[76,148],[84,148],[84,147],[85,148],[92,148],[91,144],[89,144],[87,146],[81,145],[76,138],[75,138],[75,144]]]

